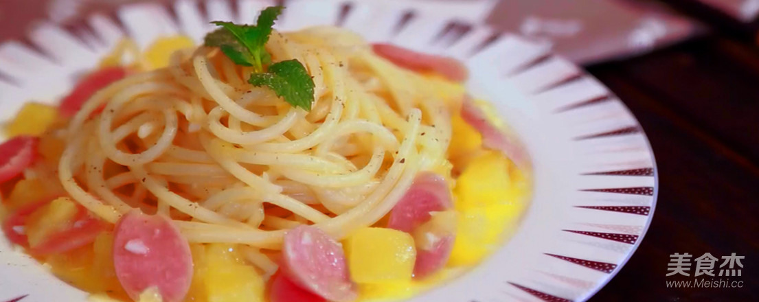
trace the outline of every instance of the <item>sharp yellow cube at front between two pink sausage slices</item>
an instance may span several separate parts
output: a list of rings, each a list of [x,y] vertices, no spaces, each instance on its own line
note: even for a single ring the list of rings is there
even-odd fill
[[[390,228],[361,228],[347,240],[348,267],[357,283],[410,280],[417,251],[411,234]]]

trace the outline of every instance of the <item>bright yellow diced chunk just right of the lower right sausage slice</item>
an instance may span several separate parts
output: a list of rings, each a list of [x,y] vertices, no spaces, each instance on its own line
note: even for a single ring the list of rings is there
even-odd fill
[[[518,222],[524,203],[495,204],[466,209],[458,215],[456,239],[449,263],[469,266],[479,263],[500,247],[505,231]]]

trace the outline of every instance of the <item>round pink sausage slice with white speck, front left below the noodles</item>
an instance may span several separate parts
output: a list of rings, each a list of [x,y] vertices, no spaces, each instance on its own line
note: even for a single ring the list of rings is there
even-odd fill
[[[190,289],[190,245],[164,216],[134,211],[121,217],[115,227],[113,263],[118,282],[134,300],[156,288],[165,302],[179,302]]]

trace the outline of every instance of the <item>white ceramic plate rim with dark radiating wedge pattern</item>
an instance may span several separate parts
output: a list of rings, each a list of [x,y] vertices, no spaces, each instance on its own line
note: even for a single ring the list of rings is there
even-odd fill
[[[200,41],[209,20],[254,23],[259,0],[175,2],[121,8],[119,20],[90,17],[91,30],[41,24],[30,40],[0,45],[0,121],[23,102],[56,102],[123,36],[142,47],[163,35]],[[656,165],[635,118],[612,93],[550,47],[512,34],[493,39],[480,23],[493,1],[345,2],[291,0],[279,30],[342,24],[370,41],[393,42],[460,58],[469,88],[492,101],[534,162],[534,200],[515,236],[490,259],[414,302],[587,300],[638,247],[656,202]],[[349,9],[345,9],[349,8]],[[458,24],[458,27],[449,27]],[[468,30],[450,30],[468,28]],[[58,281],[28,256],[0,242],[0,301],[77,301],[86,294]]]

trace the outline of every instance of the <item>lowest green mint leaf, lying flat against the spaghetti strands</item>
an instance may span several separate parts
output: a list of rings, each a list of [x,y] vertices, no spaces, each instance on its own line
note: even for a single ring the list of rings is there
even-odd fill
[[[269,66],[269,72],[251,74],[249,83],[269,87],[293,107],[311,110],[313,79],[298,60],[281,61]]]

